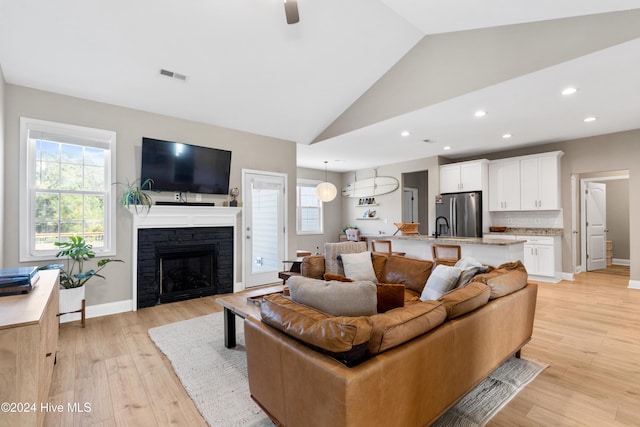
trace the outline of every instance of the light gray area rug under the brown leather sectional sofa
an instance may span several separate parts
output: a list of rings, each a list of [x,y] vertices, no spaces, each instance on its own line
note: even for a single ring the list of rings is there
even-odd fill
[[[237,322],[237,346],[224,346],[222,313],[149,329],[185,390],[210,426],[272,427],[251,399],[244,334]],[[483,426],[547,365],[511,358],[450,409],[436,426]]]

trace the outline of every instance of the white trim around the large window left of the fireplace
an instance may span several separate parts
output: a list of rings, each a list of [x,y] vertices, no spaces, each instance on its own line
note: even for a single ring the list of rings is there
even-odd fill
[[[106,149],[109,155],[105,158],[105,183],[107,185],[107,197],[105,197],[104,218],[104,247],[95,248],[96,256],[113,256],[116,254],[116,192],[112,182],[116,176],[116,132],[90,128],[86,126],[71,125],[66,123],[50,122],[46,120],[20,117],[20,200],[19,200],[19,236],[20,262],[43,261],[55,259],[56,251],[39,251],[35,247],[35,209],[33,207],[32,189],[29,184],[34,182],[34,156],[35,147],[29,144],[30,132],[42,132],[60,136],[59,142],[81,143]],[[23,220],[24,218],[24,220]]]

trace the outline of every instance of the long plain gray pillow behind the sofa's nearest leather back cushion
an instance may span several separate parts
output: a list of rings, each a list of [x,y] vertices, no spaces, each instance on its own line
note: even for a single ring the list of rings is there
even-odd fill
[[[287,280],[291,299],[333,316],[369,316],[377,313],[376,285],[293,276]]]

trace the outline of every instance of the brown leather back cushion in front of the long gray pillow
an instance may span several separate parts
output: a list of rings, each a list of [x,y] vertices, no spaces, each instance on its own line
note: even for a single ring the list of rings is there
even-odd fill
[[[264,323],[347,366],[357,364],[367,355],[372,333],[368,317],[331,317],[280,294],[264,297],[260,316]]]

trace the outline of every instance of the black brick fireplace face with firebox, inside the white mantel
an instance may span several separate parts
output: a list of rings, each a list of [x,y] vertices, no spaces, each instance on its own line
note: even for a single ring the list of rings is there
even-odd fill
[[[233,292],[233,227],[138,230],[137,308]]]

